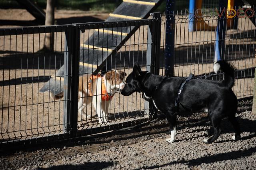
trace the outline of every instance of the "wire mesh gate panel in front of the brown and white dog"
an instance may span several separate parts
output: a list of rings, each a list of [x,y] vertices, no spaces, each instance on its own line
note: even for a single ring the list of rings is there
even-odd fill
[[[78,89],[78,130],[94,133],[94,128],[109,130],[148,119],[148,105],[139,93],[120,94],[134,62],[147,67],[148,28],[152,20],[126,21],[115,25],[79,24],[80,71]],[[135,32],[131,30],[136,27]],[[150,56],[151,57],[151,56]],[[82,67],[81,67],[82,66]],[[99,67],[101,69],[99,69]],[[101,74],[99,74],[101,73]],[[113,126],[113,127],[112,127]],[[111,127],[111,128],[110,128]]]

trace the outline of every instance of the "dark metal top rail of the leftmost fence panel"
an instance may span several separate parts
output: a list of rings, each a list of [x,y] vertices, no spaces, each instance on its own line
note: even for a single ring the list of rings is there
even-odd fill
[[[17,28],[1,28],[0,36],[65,32],[65,31],[68,31],[68,29],[70,28],[72,28],[71,24],[54,25],[54,26],[29,26],[29,27],[17,27]]]

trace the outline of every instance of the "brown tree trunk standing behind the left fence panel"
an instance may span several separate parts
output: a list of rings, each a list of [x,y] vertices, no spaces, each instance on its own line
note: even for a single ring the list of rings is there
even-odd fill
[[[54,1],[55,0],[47,0],[45,17],[46,26],[54,25]],[[54,33],[46,33],[44,41],[44,48],[48,51],[54,51]]]

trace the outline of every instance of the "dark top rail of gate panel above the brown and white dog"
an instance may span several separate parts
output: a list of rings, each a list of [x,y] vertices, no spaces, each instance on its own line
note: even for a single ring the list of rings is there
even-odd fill
[[[141,20],[127,20],[116,22],[87,22],[87,23],[75,23],[74,26],[78,26],[80,29],[99,29],[99,28],[117,28],[117,27],[130,27],[130,26],[146,26],[151,25],[156,19],[141,19]]]

